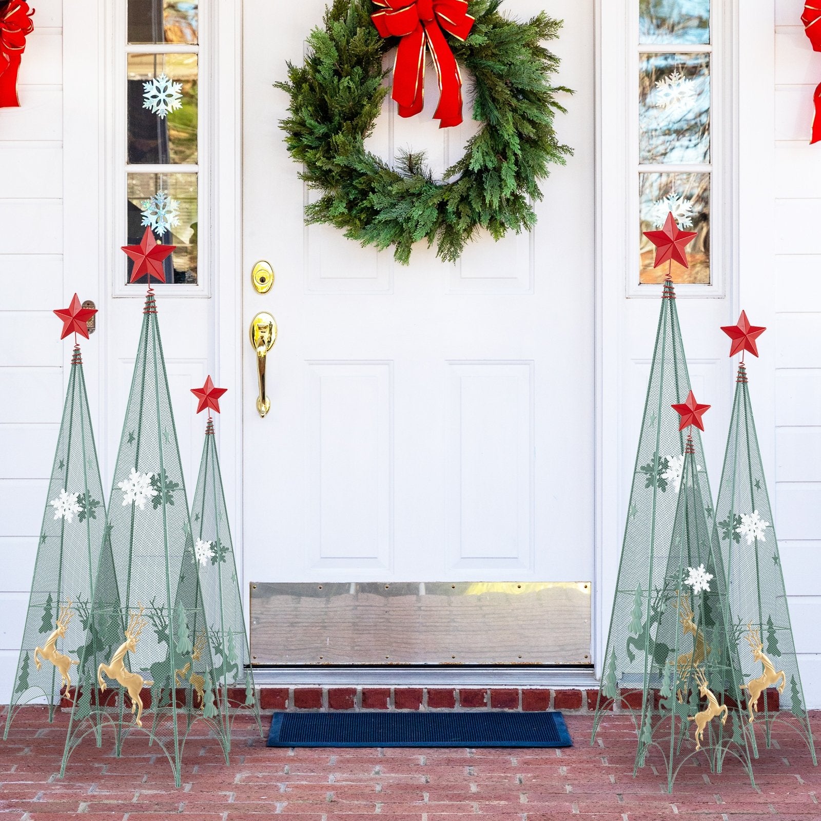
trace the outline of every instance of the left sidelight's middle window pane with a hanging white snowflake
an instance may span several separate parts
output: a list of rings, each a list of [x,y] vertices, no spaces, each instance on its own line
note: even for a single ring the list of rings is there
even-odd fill
[[[128,162],[196,164],[196,54],[129,54]]]

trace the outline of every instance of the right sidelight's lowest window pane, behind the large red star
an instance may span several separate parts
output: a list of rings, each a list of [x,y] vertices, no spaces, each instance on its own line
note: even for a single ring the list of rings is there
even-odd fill
[[[687,245],[690,268],[673,263],[673,282],[695,285],[710,284],[710,175],[706,174],[640,174],[640,248],[639,282],[650,285],[664,282],[667,264],[654,268],[655,246],[645,231],[661,228],[672,211],[682,231],[695,231]]]

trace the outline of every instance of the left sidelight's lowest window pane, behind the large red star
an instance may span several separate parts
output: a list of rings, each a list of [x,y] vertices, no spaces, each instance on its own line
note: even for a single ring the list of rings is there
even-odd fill
[[[197,282],[197,175],[128,175],[128,245],[139,245],[145,227],[163,245],[177,245],[165,261],[166,282]],[[131,279],[129,260],[126,282]],[[138,282],[147,279],[140,277]]]

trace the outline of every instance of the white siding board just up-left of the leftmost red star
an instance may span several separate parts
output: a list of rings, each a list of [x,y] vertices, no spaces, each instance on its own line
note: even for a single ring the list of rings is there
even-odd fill
[[[0,294],[0,311],[48,311],[59,307],[54,297],[62,295],[62,255],[0,255]]]

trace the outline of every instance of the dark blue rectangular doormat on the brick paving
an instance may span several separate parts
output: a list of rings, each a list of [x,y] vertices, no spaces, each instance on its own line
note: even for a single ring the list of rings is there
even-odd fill
[[[269,747],[571,747],[562,713],[274,713]]]

